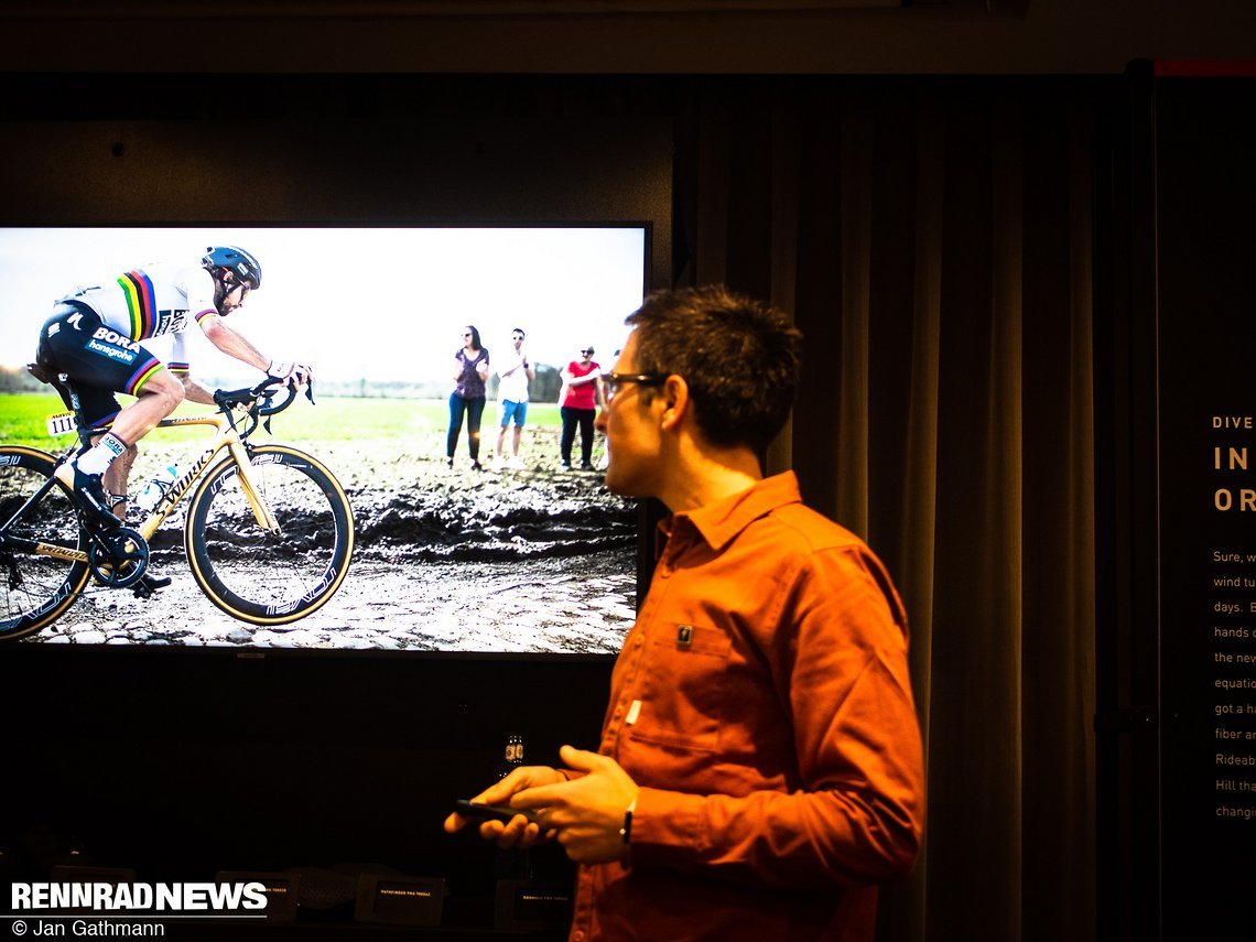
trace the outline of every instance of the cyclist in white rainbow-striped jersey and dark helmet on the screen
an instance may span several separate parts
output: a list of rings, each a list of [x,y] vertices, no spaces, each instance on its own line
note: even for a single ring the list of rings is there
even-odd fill
[[[146,265],[112,284],[80,288],[57,300],[39,334],[36,360],[45,374],[64,373],[79,396],[92,447],[57,471],[93,521],[117,528],[126,519],[127,479],[136,442],[185,398],[214,404],[214,393],[188,373],[185,332],[200,325],[210,343],[241,363],[279,379],[305,383],[309,367],[268,359],[226,317],[261,286],[261,265],[244,249],[210,246],[200,269]],[[170,335],[162,362],[141,344]],[[67,406],[69,396],[59,387]],[[122,408],[114,393],[136,401]],[[162,584],[170,580],[153,580]]]

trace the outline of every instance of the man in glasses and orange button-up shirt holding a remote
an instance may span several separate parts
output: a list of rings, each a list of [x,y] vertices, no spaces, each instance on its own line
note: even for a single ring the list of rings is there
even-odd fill
[[[477,801],[501,847],[580,864],[570,938],[872,939],[924,816],[906,615],[859,538],[759,455],[800,335],[722,288],[661,293],[604,377],[607,485],[672,511],[597,752]],[[447,830],[465,826],[451,815]]]

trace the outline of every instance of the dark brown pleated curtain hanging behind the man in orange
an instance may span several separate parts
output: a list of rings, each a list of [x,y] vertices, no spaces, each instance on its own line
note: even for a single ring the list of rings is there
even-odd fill
[[[1103,79],[710,78],[677,280],[791,311],[770,470],[907,603],[928,825],[880,937],[1095,936],[1091,136]]]

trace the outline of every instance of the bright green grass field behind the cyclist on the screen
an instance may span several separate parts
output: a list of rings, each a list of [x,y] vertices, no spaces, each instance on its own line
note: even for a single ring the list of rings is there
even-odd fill
[[[72,436],[53,438],[46,420],[64,412],[60,398],[41,393],[0,394],[0,443],[29,445],[45,451],[68,447]],[[183,403],[176,414],[211,411],[208,406]],[[349,399],[319,398],[310,406],[304,397],[284,413],[275,416],[271,428],[284,441],[363,441],[387,442],[408,440],[416,433],[443,432],[448,426],[448,404],[441,399]],[[485,438],[499,425],[497,403],[484,411],[481,428]],[[528,407],[528,425],[533,428],[558,428],[561,425],[556,403],[535,402]],[[156,435],[173,440],[203,437],[205,430],[161,431]]]

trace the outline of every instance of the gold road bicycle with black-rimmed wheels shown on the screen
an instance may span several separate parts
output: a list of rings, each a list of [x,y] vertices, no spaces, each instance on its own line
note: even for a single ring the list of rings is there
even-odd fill
[[[89,583],[146,597],[153,534],[191,494],[183,549],[197,585],[220,609],[257,625],[286,624],[318,610],[344,582],[353,555],[353,511],[344,489],[315,457],[249,436],[296,397],[294,384],[268,378],[219,391],[216,412],[165,418],[158,428],[207,426],[201,456],[170,484],[134,529],[102,529],[79,510],[53,472],[89,445],[78,396],[60,377],[73,408],[54,416],[78,443],[55,456],[0,446],[0,641],[51,624]],[[306,387],[313,402],[313,389]],[[99,433],[99,430],[95,430]]]

